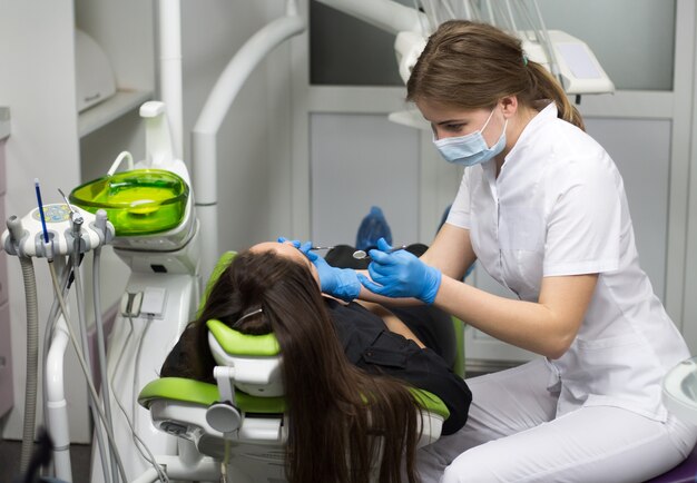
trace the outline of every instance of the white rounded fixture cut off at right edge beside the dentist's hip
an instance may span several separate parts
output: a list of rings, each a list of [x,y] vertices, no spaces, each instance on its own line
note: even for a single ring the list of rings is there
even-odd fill
[[[697,357],[683,361],[666,374],[664,403],[680,420],[697,424]]]

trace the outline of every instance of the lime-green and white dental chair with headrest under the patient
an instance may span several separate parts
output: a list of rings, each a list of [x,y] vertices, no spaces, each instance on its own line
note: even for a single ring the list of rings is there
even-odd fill
[[[218,260],[204,300],[234,256],[229,252]],[[217,384],[160,377],[138,396],[154,426],[177,436],[179,454],[155,459],[171,480],[219,481],[225,475],[233,483],[285,482],[287,415],[276,337],[242,334],[219,321],[207,326]],[[435,395],[410,391],[421,407],[423,446],[440,437],[450,413]],[[151,470],[136,482],[157,477]]]

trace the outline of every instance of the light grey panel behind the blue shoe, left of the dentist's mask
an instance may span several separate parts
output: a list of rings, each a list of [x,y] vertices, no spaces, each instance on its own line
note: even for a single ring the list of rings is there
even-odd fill
[[[393,243],[419,240],[419,132],[384,115],[315,114],[311,119],[312,239],[348,244],[371,206]]]

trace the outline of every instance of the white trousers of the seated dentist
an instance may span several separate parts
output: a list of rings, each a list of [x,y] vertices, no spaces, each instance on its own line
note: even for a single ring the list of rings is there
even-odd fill
[[[697,427],[611,406],[554,418],[543,359],[468,379],[468,423],[418,452],[423,483],[639,483],[679,464]]]

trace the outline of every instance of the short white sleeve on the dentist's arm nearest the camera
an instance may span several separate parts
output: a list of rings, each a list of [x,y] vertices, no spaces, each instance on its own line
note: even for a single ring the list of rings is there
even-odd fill
[[[621,177],[609,157],[582,159],[569,168],[571,181],[548,217],[543,275],[616,270],[622,230]]]

